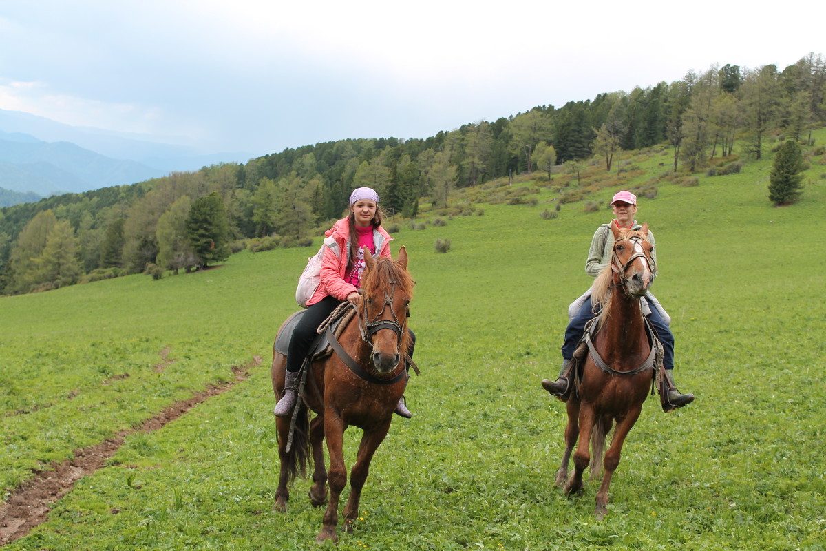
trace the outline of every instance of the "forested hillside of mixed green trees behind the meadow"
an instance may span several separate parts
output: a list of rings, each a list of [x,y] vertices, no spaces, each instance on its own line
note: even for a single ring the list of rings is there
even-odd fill
[[[229,254],[233,243],[306,245],[363,185],[377,188],[391,214],[415,217],[420,202],[444,207],[456,188],[534,171],[551,178],[559,165],[570,175],[561,190],[577,184],[583,163],[616,173],[623,151],[653,145],[671,148],[665,167],[671,173],[705,171],[721,158],[742,164],[761,159],[779,139],[812,145],[811,131],[826,123],[824,97],[822,55],[785,69],[727,64],[630,93],[468,123],[424,140],[306,145],[247,164],[6,207],[0,210],[0,292],[147,269],[161,277],[221,261],[215,249]],[[193,237],[197,225],[213,232],[207,249]]]

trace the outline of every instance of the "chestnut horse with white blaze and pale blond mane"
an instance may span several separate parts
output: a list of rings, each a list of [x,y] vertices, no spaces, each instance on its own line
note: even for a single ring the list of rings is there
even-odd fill
[[[605,460],[605,474],[596,494],[594,514],[602,519],[608,512],[608,488],[617,465],[625,437],[639,417],[643,401],[652,384],[653,350],[648,340],[646,323],[639,299],[653,281],[652,245],[645,239],[648,224],[638,231],[614,232],[614,251],[610,266],[596,278],[591,289],[595,311],[601,306],[601,315],[595,321],[596,335],[592,339],[582,367],[582,379],[567,401],[565,452],[556,477],[558,486],[564,486],[567,496],[582,488],[582,473],[591,457],[591,441],[595,461],[591,477],[600,472],[605,449],[605,437],[616,422],[614,436]],[[595,354],[596,352],[596,354]],[[595,358],[596,355],[596,358]],[[574,472],[567,479],[568,460],[575,444]]]

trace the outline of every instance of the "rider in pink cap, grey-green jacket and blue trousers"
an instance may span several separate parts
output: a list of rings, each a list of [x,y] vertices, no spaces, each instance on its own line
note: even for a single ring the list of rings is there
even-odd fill
[[[634,214],[637,212],[637,197],[634,193],[622,191],[618,192],[611,200],[611,211],[614,211],[615,219],[608,224],[602,224],[596,229],[594,238],[591,240],[591,249],[588,251],[588,260],[585,265],[585,271],[591,277],[596,278],[601,271],[610,264],[611,251],[614,249],[614,235],[610,231],[611,224],[618,228],[630,228],[632,230],[639,230],[641,226],[634,220]],[[649,230],[648,240],[651,245],[654,245],[654,235]],[[652,249],[651,259],[653,264],[654,277],[657,277],[657,249]],[[588,295],[588,293],[586,293]],[[585,325],[594,316],[591,305],[591,297],[583,296],[585,301],[582,306],[576,311],[576,315],[572,317],[571,322],[565,330],[565,343],[562,347],[563,352],[563,368],[559,372],[559,378],[556,381],[543,379],[542,387],[545,390],[558,397],[566,397],[570,390],[568,379],[571,374],[568,373],[571,368],[571,360],[573,354],[582,340],[582,335],[585,333]],[[646,298],[648,301],[646,301]],[[674,378],[672,369],[674,368],[674,335],[668,328],[669,321],[663,319],[664,311],[659,309],[659,303],[650,292],[646,293],[643,301],[643,312],[648,317],[648,321],[657,331],[657,336],[662,343],[664,354],[662,354],[663,367],[666,369],[667,386],[668,386],[668,401],[672,406],[681,407],[694,401],[693,394],[681,394],[676,387],[674,387]],[[576,305],[572,305],[576,307]],[[649,313],[650,311],[650,313]],[[667,315],[666,315],[667,316]]]

